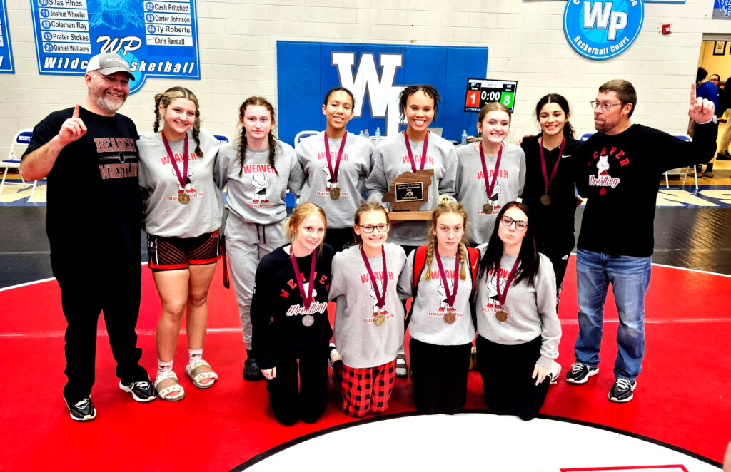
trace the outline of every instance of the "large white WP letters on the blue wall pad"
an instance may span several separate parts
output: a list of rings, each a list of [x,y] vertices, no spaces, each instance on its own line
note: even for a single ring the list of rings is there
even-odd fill
[[[396,70],[404,66],[404,54],[379,53],[379,75],[374,53],[363,53],[360,56],[353,75],[355,53],[333,52],[330,55],[330,64],[338,69],[338,77],[343,87],[352,91],[355,97],[353,115],[360,117],[363,114],[363,102],[368,95],[368,104],[371,107],[373,118],[386,118],[386,134],[398,134],[399,113],[398,94],[404,90],[403,85],[394,85]]]

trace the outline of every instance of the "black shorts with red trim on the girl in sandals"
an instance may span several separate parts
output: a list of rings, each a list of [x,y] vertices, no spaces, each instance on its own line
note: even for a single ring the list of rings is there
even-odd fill
[[[197,237],[147,236],[149,266],[153,271],[187,269],[221,259],[219,230]]]

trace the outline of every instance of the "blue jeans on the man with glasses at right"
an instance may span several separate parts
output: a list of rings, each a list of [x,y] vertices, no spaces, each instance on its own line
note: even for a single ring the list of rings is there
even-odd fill
[[[607,288],[612,283],[619,313],[615,378],[634,381],[645,355],[645,294],[650,285],[652,257],[610,256],[577,250],[576,289],[579,301],[579,335],[574,346],[576,361],[599,365],[602,323]]]

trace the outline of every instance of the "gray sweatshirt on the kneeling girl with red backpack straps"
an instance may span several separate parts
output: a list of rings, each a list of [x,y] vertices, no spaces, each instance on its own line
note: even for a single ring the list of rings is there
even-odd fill
[[[436,263],[436,255],[431,262],[431,280],[425,281],[424,274],[429,270],[426,262],[419,276],[418,293],[412,294],[411,283],[414,277],[414,257],[416,251],[412,251],[406,259],[404,274],[409,280],[409,296],[413,296],[414,311],[409,333],[412,338],[423,343],[436,344],[439,346],[459,346],[471,343],[474,340],[474,324],[472,323],[472,310],[469,305],[469,297],[472,291],[472,273],[469,268],[469,259],[465,261],[467,278],[460,280],[457,284],[457,297],[452,308],[455,308],[457,319],[453,323],[444,321],[444,314],[449,313],[449,303],[444,290],[442,275],[439,273],[439,264]],[[450,293],[454,289],[455,278],[459,278],[459,272],[454,273],[455,258],[442,257],[442,267],[447,275],[447,285]]]

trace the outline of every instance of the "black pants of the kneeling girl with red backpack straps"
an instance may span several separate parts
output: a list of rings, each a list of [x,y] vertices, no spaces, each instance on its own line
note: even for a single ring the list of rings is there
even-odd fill
[[[467,395],[467,373],[472,343],[437,346],[411,338],[414,404],[420,414],[455,414]]]

